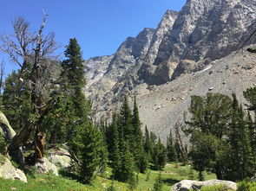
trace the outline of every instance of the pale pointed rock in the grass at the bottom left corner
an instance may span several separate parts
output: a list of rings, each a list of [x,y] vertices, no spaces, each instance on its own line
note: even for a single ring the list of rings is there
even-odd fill
[[[6,157],[0,163],[0,177],[28,182],[23,171],[12,166],[10,160]]]

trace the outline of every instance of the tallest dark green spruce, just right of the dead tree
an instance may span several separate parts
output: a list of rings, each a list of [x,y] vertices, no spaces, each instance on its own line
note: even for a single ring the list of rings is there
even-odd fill
[[[74,139],[79,129],[89,123],[91,103],[85,99],[82,88],[86,85],[85,66],[82,51],[75,38],[69,40],[65,50],[66,60],[62,61],[62,86],[69,92],[65,99],[69,102],[69,121],[66,124],[66,141],[76,153]]]

